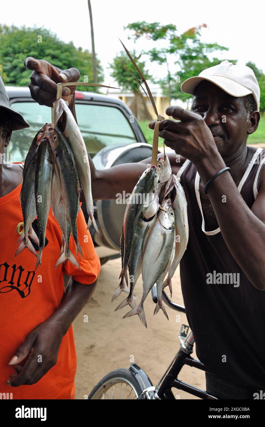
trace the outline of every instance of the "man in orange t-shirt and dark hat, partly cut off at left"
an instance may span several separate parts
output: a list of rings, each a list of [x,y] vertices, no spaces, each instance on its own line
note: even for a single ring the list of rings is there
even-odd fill
[[[52,75],[54,82],[77,81],[80,76],[75,68],[55,67]],[[75,89],[63,88],[70,108]],[[36,258],[27,249],[14,257],[23,222],[19,201],[23,164],[8,164],[2,154],[12,130],[28,126],[9,108],[0,79],[0,393],[12,393],[13,399],[74,399],[76,350],[71,324],[95,288],[100,261],[82,211],[77,218],[83,252],[83,258],[77,257],[80,271],[68,261],[54,267],[61,229],[51,211],[42,265],[35,272]],[[72,236],[70,250],[75,250]],[[71,276],[66,290],[63,274]]]

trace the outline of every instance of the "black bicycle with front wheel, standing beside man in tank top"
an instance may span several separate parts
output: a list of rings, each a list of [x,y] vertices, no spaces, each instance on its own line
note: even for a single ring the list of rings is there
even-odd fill
[[[156,284],[151,289],[154,303],[157,303]],[[163,291],[163,301],[173,310],[186,313],[185,307],[169,299]],[[180,349],[170,363],[157,386],[153,386],[150,378],[136,363],[132,363],[128,369],[116,369],[107,374],[93,388],[88,399],[96,400],[153,400],[153,399],[175,399],[172,388],[183,390],[201,399],[219,400],[204,390],[198,389],[191,384],[178,379],[178,374],[184,365],[192,366],[202,371],[209,371],[199,360],[191,357],[194,345],[192,331],[189,333],[188,325],[181,325],[179,339]]]

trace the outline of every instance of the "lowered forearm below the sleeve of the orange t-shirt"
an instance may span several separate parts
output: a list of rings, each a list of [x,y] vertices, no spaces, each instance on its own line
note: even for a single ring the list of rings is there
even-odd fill
[[[76,316],[87,304],[95,287],[97,280],[90,285],[82,284],[70,277],[64,297],[58,309],[50,316],[49,322],[61,330],[62,336],[70,328]]]

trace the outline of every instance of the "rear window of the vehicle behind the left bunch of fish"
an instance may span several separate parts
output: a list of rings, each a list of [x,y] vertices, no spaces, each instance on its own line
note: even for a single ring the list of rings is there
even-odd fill
[[[51,121],[51,109],[36,102],[13,102],[30,124],[27,129],[12,133],[7,147],[11,162],[24,161],[38,130]],[[100,149],[112,144],[127,145],[137,142],[129,121],[119,108],[76,102],[76,117],[87,152],[93,157]]]

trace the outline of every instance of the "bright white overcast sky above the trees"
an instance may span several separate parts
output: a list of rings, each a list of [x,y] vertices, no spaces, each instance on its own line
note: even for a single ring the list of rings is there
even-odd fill
[[[238,59],[244,65],[253,61],[265,72],[264,13],[261,1],[204,0],[198,2],[157,0],[91,0],[96,53],[104,67],[105,83],[111,84],[108,63],[121,50],[118,37],[128,50],[149,50],[151,41],[128,41],[123,26],[137,20],[173,23],[180,32],[206,23],[202,40],[229,47],[229,52],[217,53],[219,58]],[[72,9],[76,8],[75,12]],[[251,12],[251,9],[253,11]],[[45,26],[63,41],[72,40],[76,47],[91,50],[90,22],[87,0],[73,2],[56,0],[13,0],[1,4],[0,23],[16,26]],[[75,64],[73,64],[73,67]],[[163,69],[147,63],[155,77],[163,76]],[[175,70],[176,71],[176,70]]]

